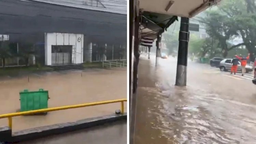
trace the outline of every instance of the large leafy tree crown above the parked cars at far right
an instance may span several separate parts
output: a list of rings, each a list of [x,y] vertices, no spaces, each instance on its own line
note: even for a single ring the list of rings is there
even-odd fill
[[[224,55],[237,46],[245,45],[251,53],[251,60],[254,60],[256,54],[255,0],[222,1],[216,11],[210,11],[208,14],[209,17],[205,20],[207,32],[211,37],[220,41],[219,46],[223,49]],[[234,36],[240,36],[243,43],[231,47],[226,46],[225,41],[232,40]]]

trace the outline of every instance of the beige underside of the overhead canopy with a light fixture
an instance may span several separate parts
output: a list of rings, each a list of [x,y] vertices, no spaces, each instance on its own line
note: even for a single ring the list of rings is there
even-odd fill
[[[171,0],[170,8],[166,11],[170,0],[139,0],[143,11],[169,14],[183,17],[194,17],[221,0]]]

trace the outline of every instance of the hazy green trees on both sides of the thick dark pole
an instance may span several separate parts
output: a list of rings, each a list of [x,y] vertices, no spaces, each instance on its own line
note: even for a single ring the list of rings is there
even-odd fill
[[[226,0],[214,9],[205,11],[206,17],[200,21],[206,26],[210,38],[199,39],[190,34],[189,54],[196,57],[233,57],[233,55],[256,55],[256,4],[255,0]],[[163,34],[170,52],[177,51],[179,46],[179,29],[169,28]],[[242,43],[233,45],[234,38],[240,37]],[[246,49],[239,48],[245,45]]]

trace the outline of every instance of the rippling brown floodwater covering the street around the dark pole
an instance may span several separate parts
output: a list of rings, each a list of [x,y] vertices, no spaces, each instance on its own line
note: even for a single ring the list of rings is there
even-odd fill
[[[252,81],[188,61],[187,86],[176,87],[176,58],[140,58],[135,143],[255,144]]]

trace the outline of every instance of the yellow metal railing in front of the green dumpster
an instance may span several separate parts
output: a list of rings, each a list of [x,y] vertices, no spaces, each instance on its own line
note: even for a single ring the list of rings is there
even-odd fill
[[[31,115],[31,114],[36,114],[36,113],[45,113],[45,112],[52,112],[52,111],[59,111],[59,110],[66,110],[66,109],[75,109],[75,108],[79,108],[79,107],[87,107],[87,106],[102,105],[102,104],[117,103],[117,102],[121,102],[121,114],[124,114],[124,111],[125,111],[124,110],[124,102],[125,101],[127,101],[127,99],[92,102],[92,103],[77,104],[77,105],[67,105],[67,106],[53,107],[53,108],[48,108],[48,109],[40,109],[40,110],[33,110],[33,111],[26,111],[26,112],[3,114],[3,115],[0,115],[0,118],[8,118],[9,127],[12,129],[12,117],[14,117],[14,116]]]

